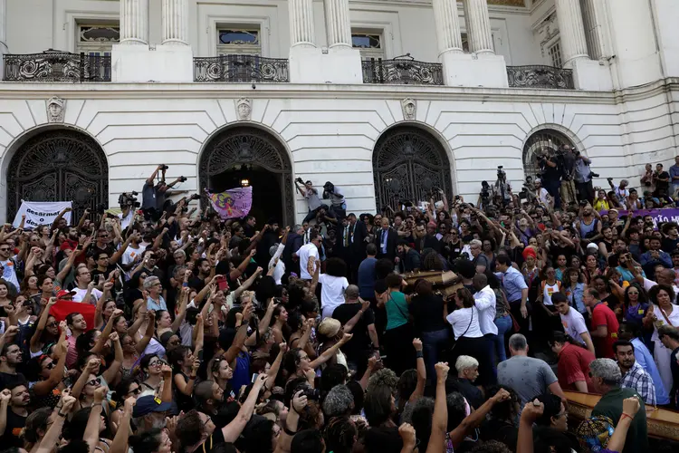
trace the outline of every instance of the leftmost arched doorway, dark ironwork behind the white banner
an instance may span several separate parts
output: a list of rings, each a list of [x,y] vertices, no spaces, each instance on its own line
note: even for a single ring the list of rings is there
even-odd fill
[[[108,207],[109,166],[91,137],[76,130],[49,130],[16,150],[7,170],[7,219],[21,200],[72,201],[74,222],[85,209]]]

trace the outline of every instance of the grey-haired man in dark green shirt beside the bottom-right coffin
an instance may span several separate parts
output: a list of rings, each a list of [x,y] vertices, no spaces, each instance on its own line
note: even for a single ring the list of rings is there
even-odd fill
[[[613,420],[620,419],[623,414],[623,400],[630,397],[641,399],[636,390],[625,389],[620,386],[622,371],[620,371],[616,361],[611,359],[592,361],[589,364],[589,376],[594,390],[602,394],[601,399],[598,400],[597,405],[592,410],[593,417],[603,416]],[[636,415],[628,417],[632,420],[622,453],[648,451],[646,410],[639,410]]]

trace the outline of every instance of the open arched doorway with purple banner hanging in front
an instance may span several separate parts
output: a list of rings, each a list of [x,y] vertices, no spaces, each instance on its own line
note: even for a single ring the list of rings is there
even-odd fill
[[[253,188],[253,210],[257,225],[269,218],[292,225],[294,193],[292,164],[282,143],[272,134],[247,126],[218,133],[200,157],[200,187],[214,192],[241,187],[247,179]]]

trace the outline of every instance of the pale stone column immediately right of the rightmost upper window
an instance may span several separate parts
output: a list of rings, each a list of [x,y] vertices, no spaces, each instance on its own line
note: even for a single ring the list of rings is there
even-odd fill
[[[579,59],[589,59],[580,0],[556,0],[563,66],[572,68]]]

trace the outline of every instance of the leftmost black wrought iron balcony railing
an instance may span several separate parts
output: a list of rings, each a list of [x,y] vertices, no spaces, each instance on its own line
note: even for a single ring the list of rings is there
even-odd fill
[[[5,82],[110,82],[110,56],[46,51],[5,54]]]

